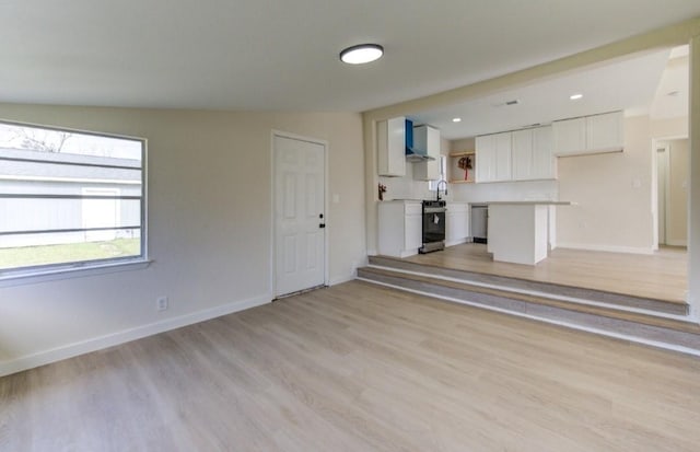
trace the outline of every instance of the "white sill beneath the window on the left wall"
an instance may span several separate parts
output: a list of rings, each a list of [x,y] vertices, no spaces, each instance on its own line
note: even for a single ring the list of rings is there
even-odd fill
[[[33,285],[55,281],[60,279],[82,278],[86,276],[106,275],[117,271],[141,270],[151,265],[153,260],[138,259],[120,263],[102,264],[90,267],[61,268],[56,270],[42,270],[24,274],[0,276],[0,288]]]

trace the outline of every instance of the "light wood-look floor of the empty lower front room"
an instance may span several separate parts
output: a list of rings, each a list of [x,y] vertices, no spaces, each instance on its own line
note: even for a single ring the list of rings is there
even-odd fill
[[[1,451],[697,451],[700,360],[352,281],[0,379]]]

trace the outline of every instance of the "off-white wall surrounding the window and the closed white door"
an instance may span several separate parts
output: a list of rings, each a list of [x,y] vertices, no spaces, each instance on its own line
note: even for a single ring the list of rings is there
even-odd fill
[[[0,104],[0,118],[147,138],[154,260],[0,287],[0,374],[269,301],[272,129],[329,143],[330,281],[366,258],[360,115]]]

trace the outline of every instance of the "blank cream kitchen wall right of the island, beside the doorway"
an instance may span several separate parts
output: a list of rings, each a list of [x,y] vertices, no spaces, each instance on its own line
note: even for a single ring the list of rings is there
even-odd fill
[[[651,253],[652,136],[649,116],[625,119],[625,151],[558,159],[559,246]]]

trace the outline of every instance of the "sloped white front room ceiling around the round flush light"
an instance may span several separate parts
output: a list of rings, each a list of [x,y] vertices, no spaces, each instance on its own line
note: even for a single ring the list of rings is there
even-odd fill
[[[0,102],[360,112],[698,15],[689,0],[0,0]],[[385,57],[338,60],[365,42]]]

